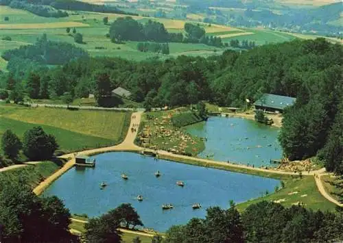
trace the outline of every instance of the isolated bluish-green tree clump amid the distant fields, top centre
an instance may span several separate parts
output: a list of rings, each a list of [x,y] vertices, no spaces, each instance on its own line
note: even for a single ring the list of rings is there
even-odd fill
[[[182,33],[169,33],[163,23],[147,21],[143,24],[131,17],[117,18],[110,26],[110,39],[113,42],[125,40],[150,42],[185,42],[203,43],[222,47],[222,39],[216,36],[206,36],[204,28],[191,23],[185,24],[186,36]]]

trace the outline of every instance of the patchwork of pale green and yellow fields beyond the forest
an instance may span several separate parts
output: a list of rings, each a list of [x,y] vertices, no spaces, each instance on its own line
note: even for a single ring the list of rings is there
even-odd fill
[[[0,19],[0,39],[10,36],[12,41],[0,40],[0,54],[8,49],[15,49],[25,44],[33,44],[38,36],[47,34],[49,40],[73,43],[78,47],[86,49],[91,56],[116,56],[128,60],[146,60],[150,57],[165,59],[168,55],[158,53],[143,53],[137,51],[137,42],[128,41],[124,44],[116,44],[106,37],[110,25],[104,25],[102,19],[108,16],[110,23],[115,18],[123,17],[123,14],[104,14],[94,12],[70,12],[64,18],[45,18],[36,16],[24,10],[16,10],[6,6],[0,6],[1,12],[9,17],[9,21]],[[196,21],[200,16],[191,16]],[[166,18],[146,18],[143,16],[132,16],[142,23],[147,19],[156,20],[165,25],[169,32],[182,32],[186,21]],[[279,31],[268,29],[238,29],[224,25],[209,25],[198,22],[206,30],[207,36],[220,36],[223,42],[230,40],[248,40],[255,44],[266,44],[273,42],[284,42],[294,38],[306,38],[307,36],[295,36]],[[74,42],[73,36],[67,34],[67,27],[75,29],[83,35],[84,44]],[[310,37],[309,37],[310,38]],[[311,37],[314,38],[314,37]],[[224,51],[223,48],[210,47],[205,44],[169,43],[171,56],[178,55],[217,55]],[[7,62],[0,58],[0,68],[5,69]]]

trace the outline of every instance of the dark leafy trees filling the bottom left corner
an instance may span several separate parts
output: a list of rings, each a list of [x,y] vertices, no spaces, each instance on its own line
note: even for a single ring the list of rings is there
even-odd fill
[[[71,214],[60,199],[56,196],[40,199],[21,179],[2,185],[3,242],[78,242],[69,233]]]

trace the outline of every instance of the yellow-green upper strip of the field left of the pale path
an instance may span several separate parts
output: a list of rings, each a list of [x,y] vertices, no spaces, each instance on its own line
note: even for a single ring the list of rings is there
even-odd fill
[[[20,120],[25,123],[49,125],[99,138],[119,142],[126,136],[130,114],[126,112],[90,111],[2,106],[0,116]]]

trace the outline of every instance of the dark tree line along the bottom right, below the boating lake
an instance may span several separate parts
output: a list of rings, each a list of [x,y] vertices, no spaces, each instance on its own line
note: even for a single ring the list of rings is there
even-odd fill
[[[285,208],[263,201],[241,214],[233,205],[229,209],[210,207],[204,219],[171,227],[165,242],[335,242],[343,239],[342,224],[342,212],[313,212],[298,205]]]

